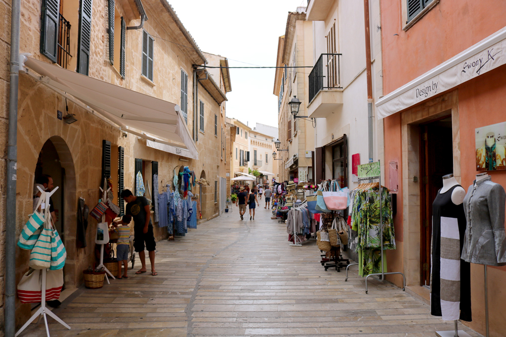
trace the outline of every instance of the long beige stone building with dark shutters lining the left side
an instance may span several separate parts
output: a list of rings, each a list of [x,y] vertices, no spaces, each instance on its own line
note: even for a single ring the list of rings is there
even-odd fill
[[[95,262],[97,222],[89,217],[88,245],[78,248],[77,202],[81,197],[93,209],[102,197],[99,187],[104,176],[108,175],[112,180],[115,204],[122,204],[119,193],[123,188],[135,192],[138,171],[147,182],[146,197],[157,201],[154,190],[162,191],[166,184],[172,187],[175,172],[178,174],[181,166],[188,166],[195,172],[196,178],[205,177],[209,183],[201,189],[199,185],[192,187],[192,192],[201,201],[202,218],[210,219],[223,212],[225,101],[231,86],[226,69],[207,72],[203,67],[193,66],[206,63],[220,66],[227,61],[223,57],[202,53],[172,7],[164,1],[145,0],[141,4],[133,0],[116,0],[115,3],[81,0],[79,4],[77,1],[61,0],[56,6],[60,9],[59,13],[49,13],[49,3],[49,0],[35,0],[21,4],[20,53],[30,54],[29,58],[34,60],[30,64],[42,62],[44,69],[58,67],[55,72],[66,69],[65,74],[71,78],[88,76],[106,82],[103,85],[114,85],[113,89],[118,92],[130,93],[127,96],[138,97],[137,93],[142,93],[139,109],[144,109],[141,101],[148,98],[156,98],[160,104],[177,104],[178,130],[174,131],[174,124],[150,123],[158,125],[156,127],[167,134],[169,131],[166,130],[172,130],[170,132],[183,135],[184,139],[184,142],[165,141],[159,138],[159,134],[150,133],[149,130],[156,127],[144,129],[143,125],[148,124],[145,121],[138,122],[138,127],[135,124],[134,127],[125,126],[122,123],[128,121],[113,118],[113,109],[107,111],[104,106],[92,107],[89,102],[82,101],[79,94],[71,95],[47,85],[43,79],[51,77],[51,74],[44,77],[45,74],[28,66],[26,72],[20,72],[16,236],[32,213],[35,178],[50,174],[55,186],[59,187],[53,196],[58,215],[56,226],[68,254],[64,270],[65,287],[72,289],[82,283],[82,271]],[[10,16],[10,5],[6,2],[0,4],[4,15]],[[83,10],[89,12],[83,13]],[[47,22],[55,24],[55,20],[51,21],[55,16],[56,27],[60,27],[55,31],[66,34],[64,30],[68,29],[63,38],[58,34],[51,35],[51,30],[41,30]],[[128,29],[139,25],[142,27]],[[5,45],[2,50],[6,53],[10,41],[9,26],[1,28],[0,39]],[[83,33],[85,31],[88,33]],[[56,45],[51,44],[55,41]],[[0,83],[4,88],[9,86],[6,62],[0,67]],[[126,89],[131,91],[121,91]],[[0,146],[2,154],[5,154],[8,97],[4,93],[8,90],[2,92],[0,124],[4,132],[0,133]],[[67,119],[63,117],[68,116],[67,112],[73,114],[75,122],[66,123]],[[5,155],[2,155],[0,163],[0,172],[5,177]],[[158,185],[153,185],[156,172]],[[0,184],[0,211],[4,213],[5,178]],[[5,218],[2,218],[2,231],[5,225]],[[154,221],[153,227],[156,239],[167,236],[166,227],[158,227]],[[0,244],[0,248],[0,260],[4,261],[5,242]],[[28,259],[29,252],[17,248],[16,283],[27,271]],[[3,265],[1,270],[0,287],[4,292]],[[3,306],[1,311],[0,317],[3,318]],[[29,316],[30,306],[16,300],[16,325],[19,327]]]

